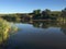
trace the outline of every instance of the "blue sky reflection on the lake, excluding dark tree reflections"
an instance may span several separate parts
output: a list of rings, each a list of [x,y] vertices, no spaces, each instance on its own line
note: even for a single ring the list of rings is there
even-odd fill
[[[66,35],[61,27],[36,28],[21,23],[15,25],[21,30],[10,36],[10,48],[66,48]]]

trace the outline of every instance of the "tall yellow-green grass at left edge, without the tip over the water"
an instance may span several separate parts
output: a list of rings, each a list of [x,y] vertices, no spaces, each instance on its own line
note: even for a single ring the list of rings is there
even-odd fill
[[[0,19],[0,42],[6,40],[9,36],[10,24],[6,20]]]

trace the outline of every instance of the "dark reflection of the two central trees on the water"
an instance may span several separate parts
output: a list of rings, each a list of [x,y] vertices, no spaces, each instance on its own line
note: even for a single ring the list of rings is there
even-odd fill
[[[41,28],[48,28],[51,26],[56,26],[56,23],[55,22],[50,22],[50,21],[43,21],[43,22],[34,21],[33,26],[34,27],[41,27]]]

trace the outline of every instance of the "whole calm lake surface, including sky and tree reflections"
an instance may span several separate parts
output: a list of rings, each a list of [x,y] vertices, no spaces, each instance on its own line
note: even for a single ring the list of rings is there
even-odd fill
[[[13,23],[20,30],[9,34],[1,49],[66,49],[66,24],[56,22]]]

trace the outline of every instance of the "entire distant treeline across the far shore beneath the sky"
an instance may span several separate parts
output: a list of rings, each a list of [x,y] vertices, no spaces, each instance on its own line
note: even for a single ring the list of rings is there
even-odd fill
[[[34,10],[32,13],[0,14],[0,17],[8,21],[29,21],[29,20],[63,20],[66,19],[66,8],[62,11]]]

